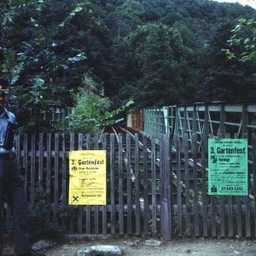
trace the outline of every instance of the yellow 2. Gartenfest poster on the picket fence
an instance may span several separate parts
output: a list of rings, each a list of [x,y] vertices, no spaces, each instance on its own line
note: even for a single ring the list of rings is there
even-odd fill
[[[106,205],[106,150],[69,152],[70,205]]]

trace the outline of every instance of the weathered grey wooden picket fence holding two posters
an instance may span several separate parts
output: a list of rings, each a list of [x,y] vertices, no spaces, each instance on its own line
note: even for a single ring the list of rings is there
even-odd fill
[[[49,219],[68,233],[174,236],[256,236],[255,135],[248,152],[247,196],[207,195],[207,137],[135,134],[23,134],[16,152],[26,193],[36,205],[45,191]],[[175,148],[171,148],[175,140]],[[107,205],[68,206],[68,151],[107,150]],[[65,210],[63,210],[65,209]],[[63,212],[64,211],[64,212]],[[66,212],[65,212],[66,211]],[[65,214],[63,214],[65,213]],[[11,216],[8,210],[7,221]]]

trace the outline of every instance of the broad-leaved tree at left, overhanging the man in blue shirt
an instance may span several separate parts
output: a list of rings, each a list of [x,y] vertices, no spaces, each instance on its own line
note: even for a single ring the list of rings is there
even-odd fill
[[[85,8],[85,3],[69,5],[60,20],[44,26],[44,12],[51,1],[3,1],[1,14],[1,72],[12,84],[11,103],[18,112],[21,129],[49,129],[41,112],[61,105],[65,82],[58,79],[60,70],[85,60],[83,52],[62,55],[62,42],[57,38],[63,27]],[[21,104],[22,102],[22,107]]]

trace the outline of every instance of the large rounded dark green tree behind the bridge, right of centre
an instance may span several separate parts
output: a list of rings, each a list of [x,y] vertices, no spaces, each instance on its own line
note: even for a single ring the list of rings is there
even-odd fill
[[[125,79],[133,84],[130,93],[137,106],[183,102],[192,74],[188,59],[193,53],[176,29],[158,23],[139,26],[124,39],[123,49]]]

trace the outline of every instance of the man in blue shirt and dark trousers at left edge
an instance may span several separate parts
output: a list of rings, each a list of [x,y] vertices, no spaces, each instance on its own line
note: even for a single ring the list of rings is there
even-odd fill
[[[15,253],[18,256],[45,256],[32,250],[28,239],[27,202],[24,177],[16,160],[14,146],[15,115],[8,102],[9,81],[0,78],[0,255],[3,251],[3,196],[7,195],[13,210]]]

